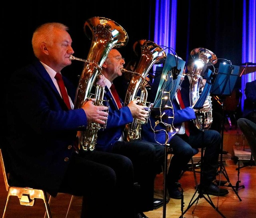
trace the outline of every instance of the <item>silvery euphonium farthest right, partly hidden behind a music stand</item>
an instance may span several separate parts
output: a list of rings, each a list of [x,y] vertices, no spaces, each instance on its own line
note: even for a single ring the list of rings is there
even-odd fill
[[[202,83],[204,73],[210,65],[214,65],[217,61],[217,56],[205,48],[195,48],[190,52],[191,57],[194,59],[194,69],[192,72],[192,78],[190,81],[190,105],[194,105],[197,99],[200,97],[200,93],[204,88]],[[207,97],[209,101],[210,108],[207,111],[204,111],[204,129],[209,129],[212,124],[212,100],[210,94]],[[194,120],[194,125],[198,129],[203,127],[203,117],[202,115],[196,115]]]

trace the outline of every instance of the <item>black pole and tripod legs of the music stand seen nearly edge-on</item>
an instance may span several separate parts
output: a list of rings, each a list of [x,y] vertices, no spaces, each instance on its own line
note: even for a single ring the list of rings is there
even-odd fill
[[[204,113],[197,113],[197,115],[201,115],[202,116],[202,145],[204,144]],[[186,208],[186,210],[184,211],[184,214],[189,210],[189,208],[191,208],[191,206],[196,202],[196,204],[198,203],[199,198],[204,198],[213,208],[214,210],[216,210],[223,218],[225,218],[225,216],[218,210],[218,208],[216,208],[216,206],[214,205],[214,203],[212,202],[210,196],[207,194],[208,198],[206,198],[206,196],[204,196],[203,194],[203,190],[202,190],[202,184],[203,184],[203,176],[204,176],[204,149],[201,149],[201,170],[200,170],[200,184],[197,186],[196,191],[194,193],[194,195],[192,196],[188,207]],[[198,196],[194,199],[196,193],[199,193]],[[194,201],[193,201],[194,199]],[[195,210],[195,208],[194,208]],[[194,210],[192,213],[194,213]],[[180,216],[180,218],[182,218],[183,216]]]

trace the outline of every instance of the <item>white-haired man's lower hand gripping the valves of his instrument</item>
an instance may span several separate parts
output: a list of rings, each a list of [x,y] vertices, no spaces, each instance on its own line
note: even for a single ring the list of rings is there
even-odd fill
[[[95,123],[99,123],[104,125],[108,119],[108,107],[106,106],[96,106],[94,105],[95,99],[90,99],[84,103],[82,109],[84,109],[86,113],[86,117],[88,121],[93,121]]]

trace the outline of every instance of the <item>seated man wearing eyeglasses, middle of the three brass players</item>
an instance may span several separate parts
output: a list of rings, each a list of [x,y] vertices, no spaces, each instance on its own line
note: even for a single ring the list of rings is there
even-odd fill
[[[164,147],[147,141],[124,140],[123,131],[127,123],[134,118],[146,121],[148,111],[138,105],[136,100],[127,106],[113,87],[113,80],[122,75],[124,58],[116,49],[112,49],[102,64],[102,74],[106,78],[104,99],[108,100],[109,113],[106,129],[98,131],[96,150],[122,154],[128,157],[134,166],[134,180],[140,185],[137,204],[137,217],[146,218],[143,212],[153,210],[154,178],[157,169],[164,162]]]

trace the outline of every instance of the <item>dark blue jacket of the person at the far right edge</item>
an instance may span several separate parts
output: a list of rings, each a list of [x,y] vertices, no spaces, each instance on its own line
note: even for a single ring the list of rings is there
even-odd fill
[[[245,84],[245,95],[243,117],[256,111],[256,80]]]

